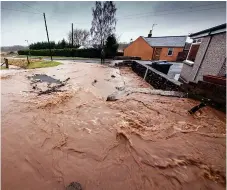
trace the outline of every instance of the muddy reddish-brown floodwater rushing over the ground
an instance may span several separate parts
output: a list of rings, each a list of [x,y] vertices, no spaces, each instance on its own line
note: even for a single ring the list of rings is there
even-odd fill
[[[33,74],[70,80],[37,96]],[[105,101],[122,86],[150,88],[98,64],[2,73],[2,189],[225,189],[225,114],[192,116],[196,101],[143,93]]]

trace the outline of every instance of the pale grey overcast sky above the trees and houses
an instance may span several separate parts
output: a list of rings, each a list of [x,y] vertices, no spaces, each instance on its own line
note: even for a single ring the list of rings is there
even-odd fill
[[[147,36],[154,23],[157,25],[153,36],[168,36],[188,35],[226,22],[226,2],[115,3],[118,19],[116,34],[120,42]],[[67,39],[71,23],[74,23],[74,28],[90,30],[94,4],[94,1],[1,2],[1,45],[26,45],[25,40],[29,43],[46,41],[43,12],[46,13],[52,41]]]

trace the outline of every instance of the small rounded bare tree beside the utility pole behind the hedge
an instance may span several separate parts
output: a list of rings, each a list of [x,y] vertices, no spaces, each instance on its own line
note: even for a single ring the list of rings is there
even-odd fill
[[[73,30],[73,44],[75,46],[86,46],[89,44],[90,33],[85,29],[74,29]],[[69,43],[72,42],[72,31],[68,33]]]

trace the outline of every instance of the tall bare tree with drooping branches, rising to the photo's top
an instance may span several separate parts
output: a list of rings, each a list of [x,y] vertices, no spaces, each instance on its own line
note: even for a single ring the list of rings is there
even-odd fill
[[[92,27],[90,29],[93,36],[93,43],[101,47],[108,36],[114,34],[116,27],[117,8],[112,1],[96,1],[95,8],[92,8]]]

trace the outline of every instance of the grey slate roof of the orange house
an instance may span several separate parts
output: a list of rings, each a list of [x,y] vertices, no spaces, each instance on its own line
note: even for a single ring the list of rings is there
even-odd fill
[[[184,47],[187,36],[142,37],[151,47]]]

